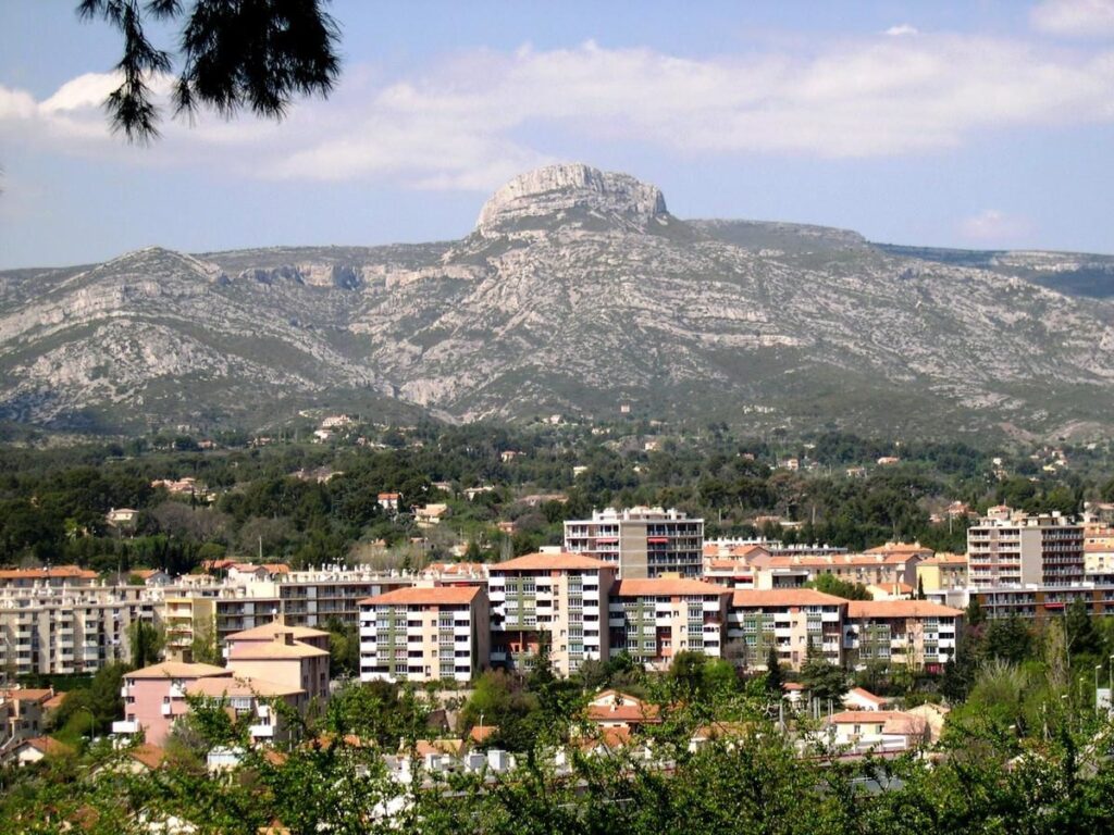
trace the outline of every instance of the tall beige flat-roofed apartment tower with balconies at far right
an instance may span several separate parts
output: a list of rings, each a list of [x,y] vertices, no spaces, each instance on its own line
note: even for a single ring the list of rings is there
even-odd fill
[[[1030,514],[990,508],[967,530],[969,583],[1071,586],[1084,580],[1083,525],[1058,512]]]

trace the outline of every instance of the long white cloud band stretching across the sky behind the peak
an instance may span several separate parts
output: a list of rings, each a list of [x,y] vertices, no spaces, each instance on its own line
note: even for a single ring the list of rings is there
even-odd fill
[[[911,27],[890,31],[899,29]],[[168,122],[150,149],[108,135],[98,101],[111,86],[110,76],[81,76],[41,102],[0,88],[0,138],[241,176],[486,190],[549,160],[555,135],[573,137],[578,156],[619,141],[687,155],[872,157],[1114,120],[1114,51],[935,33],[707,59],[590,41],[524,46],[390,80],[350,67],[328,102],[301,102],[281,125]]]

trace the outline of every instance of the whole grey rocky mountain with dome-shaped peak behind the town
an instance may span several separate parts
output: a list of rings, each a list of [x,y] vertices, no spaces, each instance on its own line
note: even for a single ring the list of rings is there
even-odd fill
[[[525,174],[456,242],[0,273],[0,418],[250,428],[635,414],[901,435],[1112,422],[1114,258],[682,220],[584,165]]]

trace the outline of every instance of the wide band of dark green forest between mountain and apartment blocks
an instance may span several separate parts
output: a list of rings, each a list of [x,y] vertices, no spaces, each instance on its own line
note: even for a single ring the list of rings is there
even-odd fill
[[[424,422],[354,426],[324,444],[295,438],[261,446],[228,434],[204,450],[198,439],[158,435],[2,446],[0,563],[77,563],[124,576],[188,572],[206,559],[261,551],[295,568],[372,557],[413,563],[449,559],[453,546],[471,560],[496,560],[559,543],[566,519],[635,504],[702,517],[707,538],[851,550],[917,540],[962,551],[968,517],[941,515],[950,502],[975,512],[1005,502],[1072,513],[1114,498],[1110,450],[1096,445],[979,450],[843,433],[745,439],[723,424],[666,434],[649,424]],[[878,465],[883,456],[898,460]],[[183,478],[198,490],[153,485]],[[465,491],[480,487],[469,500]],[[380,492],[400,493],[400,508],[380,507]],[[420,530],[412,513],[429,502],[449,505],[433,531]],[[137,520],[110,524],[114,508],[139,511]]]

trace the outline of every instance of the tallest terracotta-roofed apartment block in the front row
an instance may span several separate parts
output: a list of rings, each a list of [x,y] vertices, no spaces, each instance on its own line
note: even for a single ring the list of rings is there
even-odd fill
[[[606,661],[607,598],[617,566],[577,553],[530,553],[488,568],[491,664],[532,665],[545,644],[554,669],[568,676]]]

